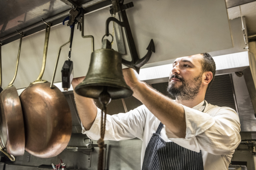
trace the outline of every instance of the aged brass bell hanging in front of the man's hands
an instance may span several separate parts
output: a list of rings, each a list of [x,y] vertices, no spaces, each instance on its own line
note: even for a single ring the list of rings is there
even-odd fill
[[[81,96],[99,99],[103,90],[111,99],[127,98],[133,94],[125,83],[122,72],[122,56],[111,49],[109,40],[102,41],[102,48],[91,53],[91,61],[86,78],[75,87]]]

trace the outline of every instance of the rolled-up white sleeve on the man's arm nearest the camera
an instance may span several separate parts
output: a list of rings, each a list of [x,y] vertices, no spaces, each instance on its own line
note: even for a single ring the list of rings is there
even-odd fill
[[[237,113],[229,107],[215,107],[214,115],[184,107],[185,138],[169,138],[187,149],[204,150],[214,155],[232,154],[241,141]]]

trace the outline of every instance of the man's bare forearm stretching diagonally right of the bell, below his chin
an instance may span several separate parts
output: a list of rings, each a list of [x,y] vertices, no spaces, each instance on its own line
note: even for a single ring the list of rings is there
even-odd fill
[[[180,104],[139,82],[133,96],[140,100],[176,136],[185,138],[186,119]]]

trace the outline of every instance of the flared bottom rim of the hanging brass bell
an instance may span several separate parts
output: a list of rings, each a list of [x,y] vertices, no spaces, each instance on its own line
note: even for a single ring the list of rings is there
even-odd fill
[[[126,85],[126,86],[120,86],[120,85],[113,85],[113,84],[105,84],[105,85],[100,85],[99,83],[90,83],[90,84],[79,84],[75,87],[75,92],[76,94],[80,95],[80,96],[84,96],[81,92],[80,92],[80,88],[84,88],[84,87],[90,87],[90,86],[101,86],[101,87],[104,87],[104,86],[109,86],[109,87],[114,87],[114,88],[120,88],[120,89],[123,89],[122,91],[126,91],[127,95],[124,95],[124,97],[115,97],[115,96],[111,96],[111,100],[116,100],[116,99],[124,99],[124,98],[128,98],[130,96],[132,96],[133,94],[133,91],[131,90],[131,88]],[[89,90],[89,89],[88,89]],[[87,96],[84,96],[84,97],[88,97],[88,98],[92,98],[92,99],[99,99],[99,97],[95,97],[93,95],[87,95]]]

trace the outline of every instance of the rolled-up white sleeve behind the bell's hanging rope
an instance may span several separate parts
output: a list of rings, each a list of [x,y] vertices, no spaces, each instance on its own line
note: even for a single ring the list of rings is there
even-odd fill
[[[148,110],[145,105],[139,106],[127,113],[106,115],[104,140],[143,139],[143,131]],[[97,108],[97,116],[90,130],[86,131],[82,124],[82,133],[90,139],[100,138],[101,110]]]

